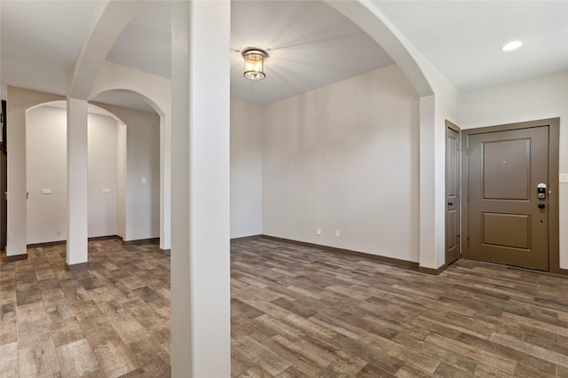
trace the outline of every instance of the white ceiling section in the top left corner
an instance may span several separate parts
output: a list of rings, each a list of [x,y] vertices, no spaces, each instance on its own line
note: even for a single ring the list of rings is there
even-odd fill
[[[67,92],[67,71],[102,5],[97,1],[0,0],[0,80]],[[5,91],[2,91],[5,99]]]

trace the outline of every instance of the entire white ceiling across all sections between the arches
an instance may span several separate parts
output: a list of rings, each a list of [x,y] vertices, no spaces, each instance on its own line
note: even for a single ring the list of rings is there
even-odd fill
[[[0,0],[3,88],[7,84],[65,95],[67,71],[101,4],[101,0]],[[371,0],[371,4],[461,91],[568,69],[564,0]],[[368,35],[321,1],[233,0],[232,12],[235,98],[265,104],[392,64]],[[517,51],[502,52],[501,46],[512,39],[525,44]],[[242,76],[238,51],[251,45],[272,52],[261,82]],[[170,77],[170,2],[148,1],[107,59]],[[140,98],[124,93],[96,100],[152,111]]]

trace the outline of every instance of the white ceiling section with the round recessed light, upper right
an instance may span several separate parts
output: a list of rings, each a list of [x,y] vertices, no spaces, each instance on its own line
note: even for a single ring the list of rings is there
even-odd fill
[[[568,1],[373,1],[461,91],[568,69]],[[516,51],[501,47],[524,44]]]

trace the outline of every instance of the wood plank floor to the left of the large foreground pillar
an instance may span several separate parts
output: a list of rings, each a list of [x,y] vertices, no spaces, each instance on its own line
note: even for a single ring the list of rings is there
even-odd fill
[[[66,272],[65,248],[0,265],[0,377],[170,376],[170,258],[92,241]]]

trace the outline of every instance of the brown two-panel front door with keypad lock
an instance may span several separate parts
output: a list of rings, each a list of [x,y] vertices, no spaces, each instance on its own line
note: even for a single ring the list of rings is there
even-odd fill
[[[548,271],[548,126],[469,135],[468,147],[469,257]]]

